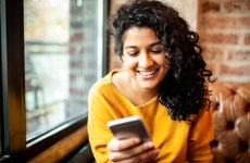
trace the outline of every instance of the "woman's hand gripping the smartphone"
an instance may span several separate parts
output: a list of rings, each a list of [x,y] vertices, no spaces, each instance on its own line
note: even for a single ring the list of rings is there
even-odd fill
[[[112,138],[108,143],[109,159],[112,163],[146,163],[159,154],[152,141],[141,143],[138,138],[118,140]]]

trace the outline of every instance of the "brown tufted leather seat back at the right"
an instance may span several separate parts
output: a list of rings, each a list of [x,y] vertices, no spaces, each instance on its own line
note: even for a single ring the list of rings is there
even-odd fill
[[[214,162],[250,163],[250,83],[213,83]]]

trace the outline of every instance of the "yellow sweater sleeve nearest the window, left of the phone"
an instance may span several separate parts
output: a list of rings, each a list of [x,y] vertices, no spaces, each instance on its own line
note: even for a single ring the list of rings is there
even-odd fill
[[[109,153],[107,143],[112,138],[112,134],[107,127],[107,122],[111,118],[105,101],[98,91],[89,93],[88,111],[88,135],[93,156],[97,162],[108,163]]]

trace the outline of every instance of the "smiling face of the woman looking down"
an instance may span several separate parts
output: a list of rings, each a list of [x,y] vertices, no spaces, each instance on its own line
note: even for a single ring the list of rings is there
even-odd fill
[[[155,33],[148,27],[130,27],[124,33],[123,41],[122,59],[133,82],[155,90],[170,65]]]

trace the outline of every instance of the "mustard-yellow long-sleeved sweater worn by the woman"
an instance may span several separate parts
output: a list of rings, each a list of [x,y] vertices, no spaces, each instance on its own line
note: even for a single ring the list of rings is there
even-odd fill
[[[211,111],[202,110],[196,123],[172,121],[157,97],[135,106],[111,83],[114,71],[96,83],[89,91],[88,134],[97,163],[110,162],[107,143],[113,137],[107,123],[111,120],[139,115],[160,153],[157,163],[212,161],[210,141],[213,139]],[[129,89],[129,88],[127,88]]]

